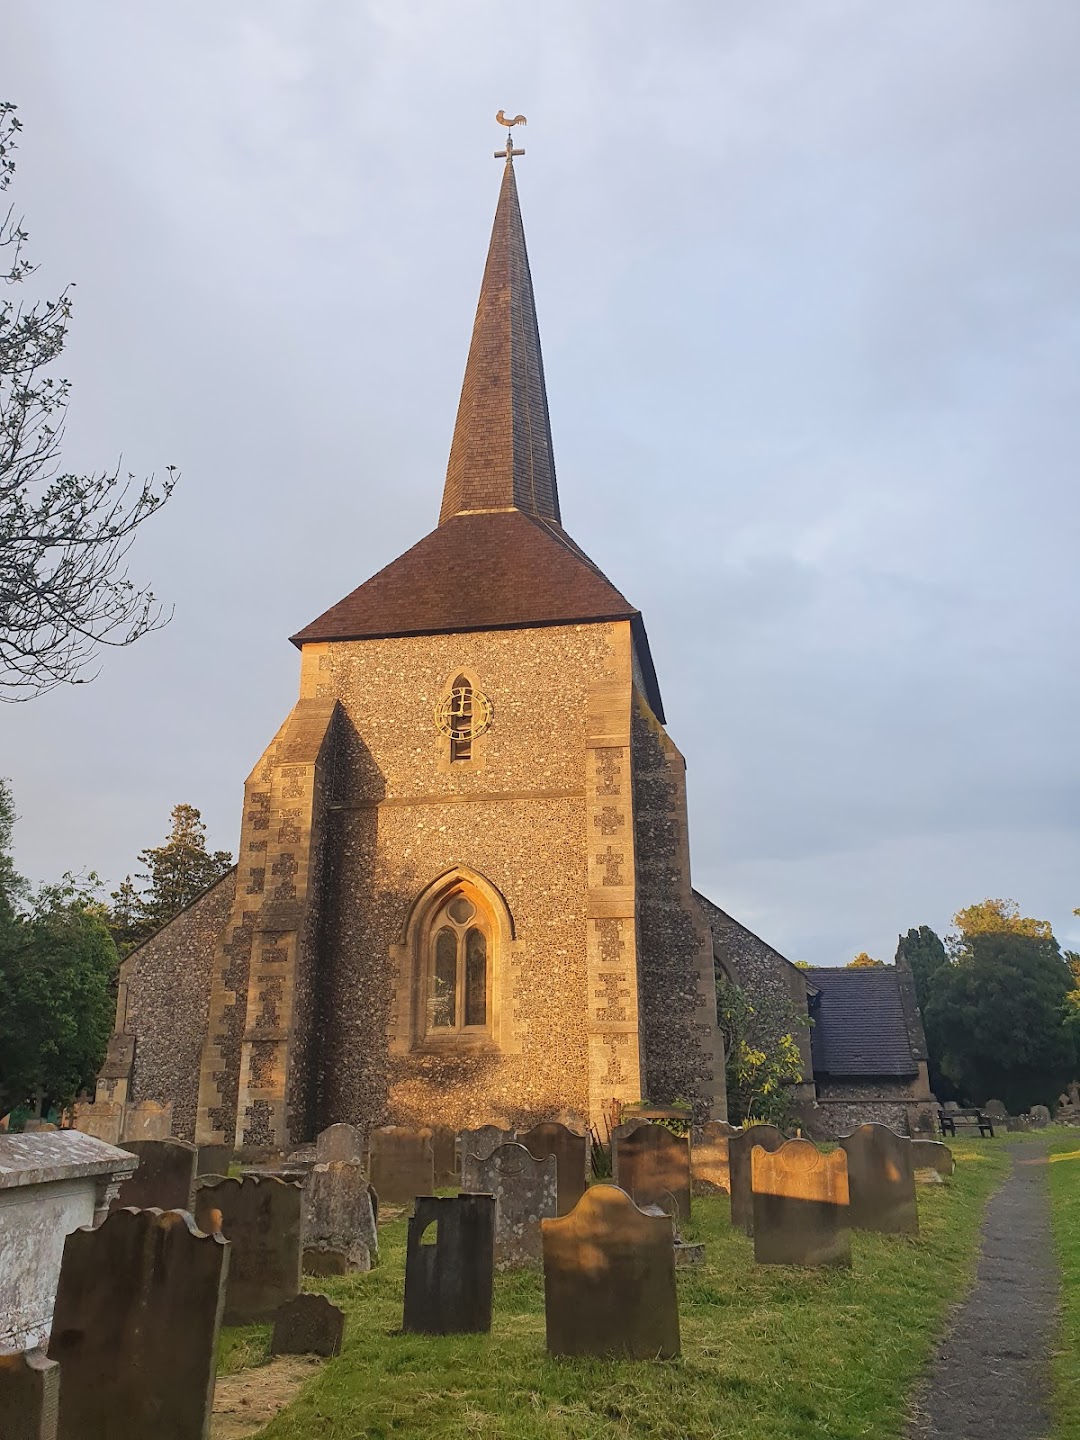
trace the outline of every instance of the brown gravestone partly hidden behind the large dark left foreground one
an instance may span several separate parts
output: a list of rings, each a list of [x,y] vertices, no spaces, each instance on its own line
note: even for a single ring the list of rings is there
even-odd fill
[[[226,1325],[272,1320],[300,1293],[302,1198],[300,1185],[255,1175],[196,1189],[199,1228],[232,1241]]]

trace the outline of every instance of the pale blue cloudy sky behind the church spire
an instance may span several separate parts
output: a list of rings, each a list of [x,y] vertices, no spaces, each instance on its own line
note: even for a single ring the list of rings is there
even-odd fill
[[[235,850],[288,635],[433,527],[503,107],[563,520],[641,608],[694,880],[791,959],[1080,948],[1074,0],[0,0],[65,465],[176,465],[170,625],[0,707],[35,881]]]

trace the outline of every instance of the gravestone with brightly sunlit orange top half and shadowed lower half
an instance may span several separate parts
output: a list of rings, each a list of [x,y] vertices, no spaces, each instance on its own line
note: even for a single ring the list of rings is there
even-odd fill
[[[809,1140],[755,1146],[753,1257],[757,1264],[850,1266],[848,1162]]]

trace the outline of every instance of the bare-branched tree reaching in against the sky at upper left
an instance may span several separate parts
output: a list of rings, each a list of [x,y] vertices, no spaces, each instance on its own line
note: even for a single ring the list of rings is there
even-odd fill
[[[0,102],[0,193],[14,174],[20,124]],[[0,212],[0,279],[9,295],[35,272],[14,209]],[[147,589],[127,577],[135,531],[173,492],[120,469],[60,469],[69,383],[52,374],[72,314],[55,300],[0,300],[0,698],[29,700],[75,684],[101,645],[130,645],[164,624]]]

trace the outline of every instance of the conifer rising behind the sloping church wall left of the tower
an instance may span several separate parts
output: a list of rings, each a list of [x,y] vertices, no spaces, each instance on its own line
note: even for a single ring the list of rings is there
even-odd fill
[[[164,845],[138,854],[145,870],[112,891],[109,929],[121,955],[168,924],[216,880],[232,870],[228,850],[206,848],[206,825],[194,805],[174,805]]]

